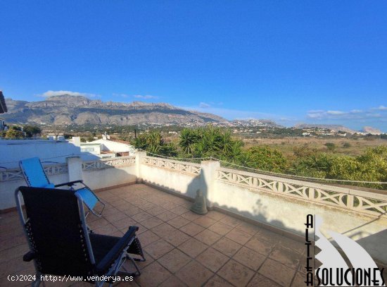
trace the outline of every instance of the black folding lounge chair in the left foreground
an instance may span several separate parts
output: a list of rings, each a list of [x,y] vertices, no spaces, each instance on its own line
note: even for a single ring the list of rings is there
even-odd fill
[[[15,200],[30,245],[30,252],[23,260],[34,260],[37,271],[32,286],[39,286],[44,275],[82,276],[83,281],[96,286],[106,281],[111,285],[114,280],[112,277],[99,280],[103,279],[101,276],[140,275],[135,261],[145,258],[136,237],[137,226],[130,226],[121,238],[88,233],[82,199],[72,190],[20,187],[15,190]],[[136,271],[129,273],[125,269],[126,259],[134,264]]]

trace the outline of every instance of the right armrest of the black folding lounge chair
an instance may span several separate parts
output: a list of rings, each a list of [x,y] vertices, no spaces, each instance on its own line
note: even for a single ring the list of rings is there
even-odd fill
[[[115,243],[113,248],[108,252],[105,257],[100,262],[96,262],[96,273],[97,274],[105,274],[106,271],[111,267],[113,262],[118,259],[118,256],[125,250],[129,243],[135,238],[136,231],[139,228],[137,226],[130,226],[129,230],[120,238],[118,243]]]

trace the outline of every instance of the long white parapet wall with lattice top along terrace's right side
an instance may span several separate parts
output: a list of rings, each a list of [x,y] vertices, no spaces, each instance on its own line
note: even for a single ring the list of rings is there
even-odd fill
[[[194,198],[200,189],[208,205],[305,236],[307,214],[317,214],[322,233],[336,231],[356,240],[372,257],[387,264],[387,193],[366,192],[307,181],[220,168],[218,161],[139,157],[146,183]]]

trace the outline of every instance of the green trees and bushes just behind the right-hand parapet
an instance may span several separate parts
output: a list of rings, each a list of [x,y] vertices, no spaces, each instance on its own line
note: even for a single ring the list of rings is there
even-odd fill
[[[184,128],[177,142],[166,142],[159,131],[143,133],[132,144],[153,154],[180,158],[208,158],[222,160],[222,166],[286,173],[296,176],[329,178],[346,181],[387,181],[387,147],[367,147],[358,156],[336,154],[336,145],[328,143],[321,151],[307,145],[293,147],[284,155],[268,145],[244,147],[224,128]],[[347,146],[348,148],[348,146]],[[227,164],[229,163],[229,164]],[[239,167],[241,168],[241,167]],[[243,169],[243,168],[241,168]],[[348,183],[345,183],[348,184]],[[387,185],[359,184],[368,188],[387,189]]]

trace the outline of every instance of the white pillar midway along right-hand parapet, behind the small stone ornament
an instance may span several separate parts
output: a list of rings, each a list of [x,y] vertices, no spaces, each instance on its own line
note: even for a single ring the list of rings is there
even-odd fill
[[[208,207],[212,207],[216,200],[216,171],[220,168],[219,161],[201,161],[201,179],[203,195],[207,198]]]

